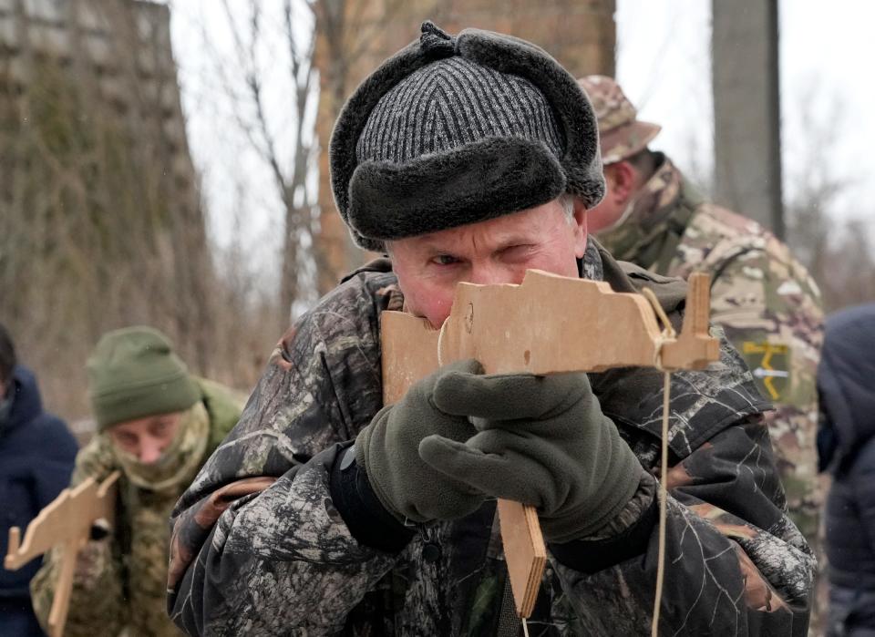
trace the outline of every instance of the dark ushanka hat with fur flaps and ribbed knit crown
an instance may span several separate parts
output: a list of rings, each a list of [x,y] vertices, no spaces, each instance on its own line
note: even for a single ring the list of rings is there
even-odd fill
[[[365,78],[329,146],[335,202],[358,245],[604,193],[598,128],[573,77],[538,46],[430,22]]]

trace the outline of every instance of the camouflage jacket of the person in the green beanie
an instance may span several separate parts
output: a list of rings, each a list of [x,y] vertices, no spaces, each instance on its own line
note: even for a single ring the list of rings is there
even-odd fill
[[[218,447],[242,411],[242,399],[225,387],[200,378],[202,399],[186,414],[200,420],[209,438],[206,451],[193,459],[179,483],[154,490],[134,484],[124,472],[118,481],[115,527],[107,539],[92,540],[80,552],[66,637],[170,637],[180,631],[167,617],[167,555],[173,505],[204,460]],[[200,423],[199,423],[200,424]],[[202,448],[202,447],[201,447]],[[96,436],[79,451],[72,484],[106,478],[122,468],[106,436]],[[31,581],[36,616],[44,628],[55,594],[59,554],[51,550]]]

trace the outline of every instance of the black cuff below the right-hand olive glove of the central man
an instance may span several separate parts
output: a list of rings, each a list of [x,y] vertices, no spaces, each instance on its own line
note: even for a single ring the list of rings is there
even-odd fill
[[[641,555],[647,549],[658,521],[659,498],[654,497],[641,518],[620,535],[608,539],[576,539],[564,544],[551,544],[550,551],[561,564],[589,575]]]

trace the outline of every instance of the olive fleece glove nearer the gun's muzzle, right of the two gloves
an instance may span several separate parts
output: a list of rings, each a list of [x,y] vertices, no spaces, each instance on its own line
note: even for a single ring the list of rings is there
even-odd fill
[[[471,374],[455,385],[451,400],[437,406],[473,416],[479,433],[467,442],[427,437],[419,452],[430,467],[490,496],[533,505],[554,542],[591,535],[633,498],[641,466],[585,374]]]

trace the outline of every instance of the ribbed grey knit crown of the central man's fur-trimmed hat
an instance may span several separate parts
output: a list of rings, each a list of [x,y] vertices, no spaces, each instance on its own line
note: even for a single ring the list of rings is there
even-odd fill
[[[386,92],[355,145],[359,162],[404,163],[486,138],[540,141],[563,154],[561,130],[528,79],[448,57],[422,67]]]

